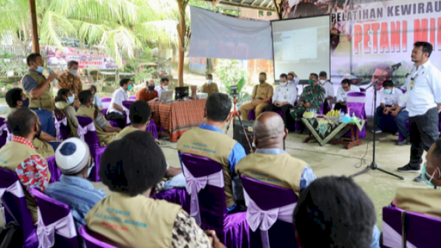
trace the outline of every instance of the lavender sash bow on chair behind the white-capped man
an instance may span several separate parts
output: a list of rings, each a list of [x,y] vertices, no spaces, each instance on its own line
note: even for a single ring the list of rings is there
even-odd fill
[[[68,214],[50,225],[43,223],[43,216],[41,216],[40,209],[38,209],[38,214],[37,237],[39,238],[39,248],[53,247],[55,244],[55,232],[65,238],[74,238],[76,236],[76,228],[72,214]]]

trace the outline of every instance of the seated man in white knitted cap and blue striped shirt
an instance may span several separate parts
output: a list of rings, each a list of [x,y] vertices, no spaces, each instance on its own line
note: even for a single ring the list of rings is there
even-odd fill
[[[55,161],[63,175],[46,188],[45,194],[70,207],[78,229],[85,225],[88,211],[105,198],[103,190],[94,189],[87,179],[94,167],[89,146],[79,138],[68,138],[58,147]]]

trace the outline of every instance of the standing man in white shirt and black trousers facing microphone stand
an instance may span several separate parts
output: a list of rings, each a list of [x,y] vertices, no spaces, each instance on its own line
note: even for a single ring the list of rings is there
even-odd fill
[[[420,172],[422,154],[435,143],[438,136],[441,109],[441,72],[429,61],[433,46],[427,42],[413,44],[411,82],[407,87],[406,109],[409,112],[411,157],[400,172]],[[422,181],[421,176],[415,178]]]

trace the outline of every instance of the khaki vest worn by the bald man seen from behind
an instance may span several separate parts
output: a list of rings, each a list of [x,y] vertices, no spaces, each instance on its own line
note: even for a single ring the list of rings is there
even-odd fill
[[[255,152],[236,165],[236,173],[256,180],[293,189],[300,194],[300,178],[307,163],[289,154],[261,154]]]

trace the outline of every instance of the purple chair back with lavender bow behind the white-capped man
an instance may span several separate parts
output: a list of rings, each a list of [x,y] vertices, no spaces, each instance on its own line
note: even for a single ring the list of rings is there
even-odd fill
[[[39,211],[39,247],[79,248],[74,218],[68,205],[51,199],[38,189],[30,189]]]

